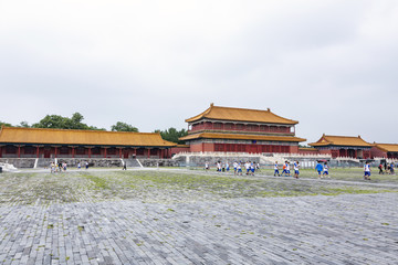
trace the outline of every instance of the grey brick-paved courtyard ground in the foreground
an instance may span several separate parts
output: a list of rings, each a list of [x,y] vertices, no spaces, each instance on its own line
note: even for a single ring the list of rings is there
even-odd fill
[[[149,184],[147,193],[138,189],[121,199],[126,191],[97,194],[86,189],[90,181],[67,176],[60,177],[64,190],[48,179],[36,187],[25,179],[23,188],[17,177],[1,178],[1,264],[398,264],[398,193],[392,188],[294,197],[240,191],[245,195],[230,198],[223,191]],[[304,186],[298,181],[294,184]],[[111,186],[96,183],[101,192]],[[38,187],[46,200],[29,199],[41,194]],[[44,190],[51,187],[52,193]]]

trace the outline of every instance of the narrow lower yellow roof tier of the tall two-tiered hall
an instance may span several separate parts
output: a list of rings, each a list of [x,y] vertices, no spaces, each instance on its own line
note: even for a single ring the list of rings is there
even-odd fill
[[[264,141],[305,141],[306,139],[294,136],[264,136],[264,135],[238,135],[202,132],[179,138],[180,140],[207,139],[233,139],[233,140],[264,140]]]

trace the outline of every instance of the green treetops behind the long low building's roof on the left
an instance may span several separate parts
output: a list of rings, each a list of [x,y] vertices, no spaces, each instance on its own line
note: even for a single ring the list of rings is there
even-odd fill
[[[19,125],[11,125],[9,123],[0,121],[1,126],[8,127],[24,127],[24,128],[48,128],[48,129],[81,129],[81,130],[106,130],[105,128],[98,128],[95,126],[90,126],[82,120],[84,119],[83,115],[80,113],[74,113],[71,118],[62,117],[60,115],[46,115],[39,123],[29,125],[27,121],[21,121]],[[138,132],[138,128],[133,125],[117,121],[111,127],[112,131],[133,131]],[[186,136],[188,131],[186,129],[177,130],[176,128],[169,128],[166,130],[155,130],[158,132],[165,140],[172,141],[176,144],[184,144],[178,140],[179,137]]]

